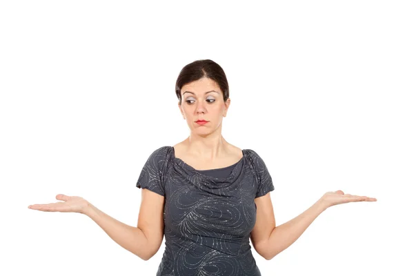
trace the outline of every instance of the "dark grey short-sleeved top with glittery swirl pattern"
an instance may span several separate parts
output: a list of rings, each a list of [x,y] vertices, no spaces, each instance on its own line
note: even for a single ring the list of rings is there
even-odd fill
[[[148,157],[138,188],[165,197],[165,250],[157,276],[260,276],[249,244],[254,199],[275,190],[250,149],[226,168],[195,170],[162,146]]]

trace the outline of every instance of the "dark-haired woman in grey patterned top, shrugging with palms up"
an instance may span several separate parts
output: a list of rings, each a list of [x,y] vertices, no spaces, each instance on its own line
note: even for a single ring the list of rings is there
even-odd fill
[[[113,219],[82,197],[34,210],[88,215],[120,246],[141,259],[155,255],[165,235],[157,275],[261,275],[253,247],[265,259],[288,248],[326,208],[375,198],[341,190],[324,194],[311,208],[275,227],[269,192],[273,181],[257,152],[229,144],[221,121],[230,106],[226,75],[209,59],[185,66],[177,79],[178,107],[190,136],[157,148],[141,170],[137,227]]]

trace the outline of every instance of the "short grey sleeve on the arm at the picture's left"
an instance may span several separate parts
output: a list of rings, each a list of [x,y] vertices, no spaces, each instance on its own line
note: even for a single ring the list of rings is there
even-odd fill
[[[152,190],[152,192],[165,196],[166,150],[168,150],[167,147],[158,148],[148,157],[137,181],[138,188]]]

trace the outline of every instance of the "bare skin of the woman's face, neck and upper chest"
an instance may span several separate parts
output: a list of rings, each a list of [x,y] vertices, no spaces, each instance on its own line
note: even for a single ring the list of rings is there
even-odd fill
[[[223,92],[211,79],[202,78],[184,85],[178,108],[186,119],[190,135],[174,146],[175,157],[198,170],[224,168],[239,161],[243,156],[242,150],[229,144],[221,135],[223,118],[229,106],[230,98],[225,102]],[[195,122],[197,119],[208,123],[199,125]]]

